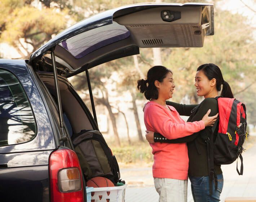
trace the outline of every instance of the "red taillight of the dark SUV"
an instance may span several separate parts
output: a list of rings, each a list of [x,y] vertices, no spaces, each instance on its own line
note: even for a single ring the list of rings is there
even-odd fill
[[[83,202],[83,180],[76,153],[56,150],[49,159],[52,202]]]

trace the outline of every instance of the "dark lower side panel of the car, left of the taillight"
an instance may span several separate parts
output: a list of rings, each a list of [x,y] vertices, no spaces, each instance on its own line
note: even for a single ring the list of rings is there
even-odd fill
[[[1,202],[49,202],[48,165],[0,169]]]

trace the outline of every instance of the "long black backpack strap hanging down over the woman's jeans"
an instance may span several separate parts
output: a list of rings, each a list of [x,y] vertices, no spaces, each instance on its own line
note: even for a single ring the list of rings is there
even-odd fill
[[[212,181],[215,184],[215,190],[217,190],[217,186],[218,186],[217,175],[214,169],[214,152],[213,152],[213,148],[214,148],[213,134],[215,129],[217,128],[217,124],[219,124],[219,118],[217,118],[217,120],[212,126],[210,138],[208,137],[208,139],[206,140],[210,195],[212,195]]]

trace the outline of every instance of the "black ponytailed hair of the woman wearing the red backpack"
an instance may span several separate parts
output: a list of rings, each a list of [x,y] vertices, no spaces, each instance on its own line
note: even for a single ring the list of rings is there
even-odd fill
[[[202,70],[209,80],[216,79],[217,91],[221,90],[221,84],[223,84],[221,96],[234,98],[231,88],[228,82],[224,81],[220,68],[212,63],[200,65],[197,71]]]

